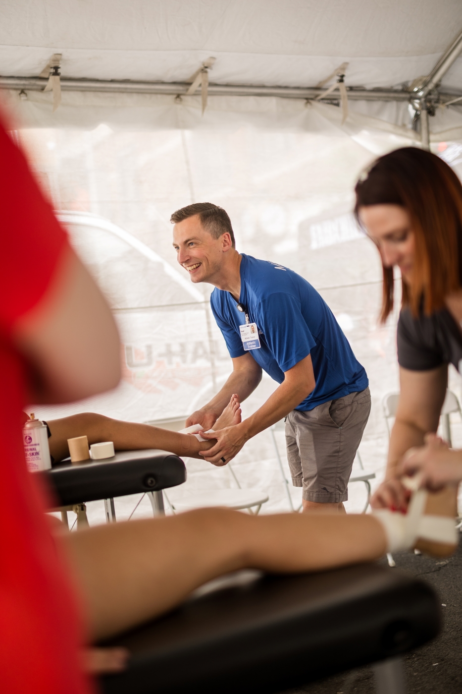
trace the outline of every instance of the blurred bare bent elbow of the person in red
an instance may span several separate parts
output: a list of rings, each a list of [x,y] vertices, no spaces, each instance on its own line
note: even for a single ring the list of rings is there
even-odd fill
[[[101,291],[69,247],[41,301],[12,335],[32,369],[29,401],[66,403],[120,378],[117,327]]]

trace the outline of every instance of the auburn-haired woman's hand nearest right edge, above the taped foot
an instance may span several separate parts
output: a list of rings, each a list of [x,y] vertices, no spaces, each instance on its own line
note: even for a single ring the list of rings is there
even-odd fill
[[[462,480],[462,451],[451,450],[447,443],[427,434],[425,446],[413,448],[397,466],[399,475],[420,475],[420,486],[439,491],[446,484]]]

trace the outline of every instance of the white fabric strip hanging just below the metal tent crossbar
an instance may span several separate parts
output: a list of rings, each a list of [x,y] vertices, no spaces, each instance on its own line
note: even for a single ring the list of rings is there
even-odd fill
[[[316,132],[325,131],[325,121],[331,121],[350,135],[369,127],[395,133],[409,139],[409,144],[420,142],[420,135],[411,128],[409,103],[398,101],[349,101],[348,118],[342,124],[341,110],[336,106],[274,96],[209,96],[203,115],[199,96],[62,92],[62,103],[55,112],[51,92],[30,91],[22,99],[17,90],[3,90],[0,96],[20,128],[93,129],[104,123],[114,130],[216,130],[228,129],[234,120],[265,129]],[[431,141],[462,139],[462,107],[438,108],[430,119],[430,128]]]

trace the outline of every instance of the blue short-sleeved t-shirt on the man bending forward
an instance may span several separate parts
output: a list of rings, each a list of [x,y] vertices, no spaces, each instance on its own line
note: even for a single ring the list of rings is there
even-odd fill
[[[367,388],[366,371],[316,289],[286,267],[241,255],[239,303],[250,323],[257,323],[261,347],[249,352],[255,362],[282,383],[284,371],[311,354],[316,387],[296,409],[304,412]],[[232,358],[246,354],[239,332],[246,317],[236,304],[228,291],[212,291],[212,312]]]

